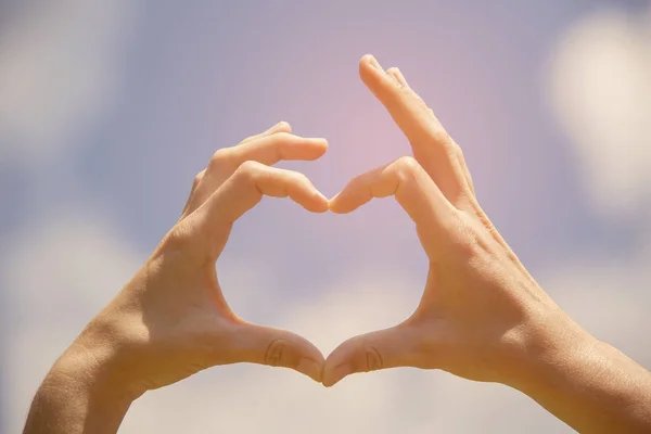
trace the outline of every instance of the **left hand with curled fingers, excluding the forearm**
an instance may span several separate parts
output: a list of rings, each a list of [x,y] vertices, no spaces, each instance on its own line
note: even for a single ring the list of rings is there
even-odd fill
[[[88,324],[59,369],[72,366],[73,372],[90,356],[132,397],[235,362],[292,368],[320,382],[321,353],[294,333],[240,319],[221,293],[215,261],[233,222],[263,194],[328,210],[328,200],[304,175],[269,167],[280,159],[316,159],[327,148],[326,140],[293,136],[280,123],[217,151],[194,180],[180,220]]]

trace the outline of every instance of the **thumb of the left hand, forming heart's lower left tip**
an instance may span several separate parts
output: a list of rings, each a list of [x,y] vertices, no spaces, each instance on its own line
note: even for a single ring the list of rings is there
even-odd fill
[[[233,346],[239,361],[290,368],[321,382],[323,355],[295,333],[242,323],[233,334]]]

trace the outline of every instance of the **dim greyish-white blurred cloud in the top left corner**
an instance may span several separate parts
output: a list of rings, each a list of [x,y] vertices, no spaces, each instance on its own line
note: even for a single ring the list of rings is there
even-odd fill
[[[111,104],[136,2],[35,2],[0,33],[0,162],[58,157]]]

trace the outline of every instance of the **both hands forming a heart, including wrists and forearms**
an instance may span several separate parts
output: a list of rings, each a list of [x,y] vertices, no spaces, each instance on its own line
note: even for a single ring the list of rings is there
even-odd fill
[[[356,372],[443,369],[518,388],[580,432],[651,431],[651,374],[589,335],[536,283],[480,207],[460,148],[400,72],[383,71],[370,55],[359,72],[413,156],[353,179],[328,201],[304,176],[269,167],[318,158],[322,139],[292,136],[281,123],[218,151],[179,222],[56,361],[25,434],[115,433],[144,392],[234,362],[292,368],[326,386]],[[294,333],[240,319],[221,294],[215,260],[233,222],[263,194],[340,214],[395,195],[430,259],[413,315],[344,342],[327,360]]]

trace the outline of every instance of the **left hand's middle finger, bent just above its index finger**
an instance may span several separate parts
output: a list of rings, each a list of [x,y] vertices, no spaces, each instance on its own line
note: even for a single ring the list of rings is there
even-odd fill
[[[203,204],[238,167],[247,161],[272,165],[281,159],[312,161],[328,150],[328,141],[320,138],[303,138],[288,132],[275,132],[243,142],[237,146],[218,150],[191,201],[191,213]]]

